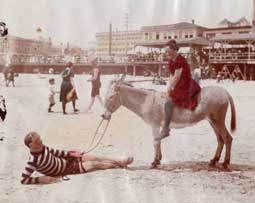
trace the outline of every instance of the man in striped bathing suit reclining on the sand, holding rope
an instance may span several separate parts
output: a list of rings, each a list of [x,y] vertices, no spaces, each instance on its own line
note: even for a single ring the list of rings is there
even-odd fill
[[[22,184],[49,184],[61,180],[60,178],[65,175],[111,168],[125,168],[133,162],[133,157],[115,160],[81,154],[77,151],[52,149],[43,145],[40,136],[36,132],[28,133],[24,143],[30,149],[32,157],[22,173]],[[34,171],[44,176],[31,177]]]

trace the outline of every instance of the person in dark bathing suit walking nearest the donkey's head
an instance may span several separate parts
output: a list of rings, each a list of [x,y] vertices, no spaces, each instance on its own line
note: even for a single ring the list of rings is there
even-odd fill
[[[89,112],[95,102],[95,98],[98,99],[98,101],[100,102],[100,104],[102,106],[104,106],[103,104],[103,100],[100,97],[100,88],[101,88],[101,81],[100,81],[100,76],[101,76],[101,71],[98,67],[97,64],[97,60],[92,61],[92,67],[93,67],[93,71],[92,71],[92,78],[88,81],[91,81],[91,85],[92,85],[92,89],[91,89],[91,101],[90,104],[88,106],[88,108],[86,109],[85,112]]]

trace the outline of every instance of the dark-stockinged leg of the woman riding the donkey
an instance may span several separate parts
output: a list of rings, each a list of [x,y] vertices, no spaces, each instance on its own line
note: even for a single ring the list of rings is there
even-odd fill
[[[173,113],[173,102],[170,97],[166,99],[165,102],[165,120],[163,128],[160,132],[159,139],[163,139],[167,136],[169,136],[169,125],[172,119],[172,113]]]

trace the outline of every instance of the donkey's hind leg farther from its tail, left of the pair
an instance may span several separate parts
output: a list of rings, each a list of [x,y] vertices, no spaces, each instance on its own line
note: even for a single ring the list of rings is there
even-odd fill
[[[218,146],[217,146],[214,158],[210,161],[209,165],[210,166],[215,166],[215,164],[220,160],[220,156],[221,156],[221,152],[222,152],[222,149],[223,149],[223,146],[224,146],[224,142],[223,142],[223,139],[222,139],[221,135],[219,134],[219,129],[218,129],[217,123],[211,121],[210,124],[211,124],[211,126],[212,126],[212,128],[213,128],[213,130],[216,134]]]

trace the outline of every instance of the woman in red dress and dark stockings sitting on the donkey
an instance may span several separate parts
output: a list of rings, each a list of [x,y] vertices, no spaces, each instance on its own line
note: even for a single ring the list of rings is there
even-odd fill
[[[174,105],[194,110],[197,106],[197,96],[201,88],[191,77],[190,67],[186,59],[178,54],[175,40],[170,40],[167,49],[169,56],[169,84],[165,102],[165,120],[159,139],[169,136],[169,125],[172,118]]]

